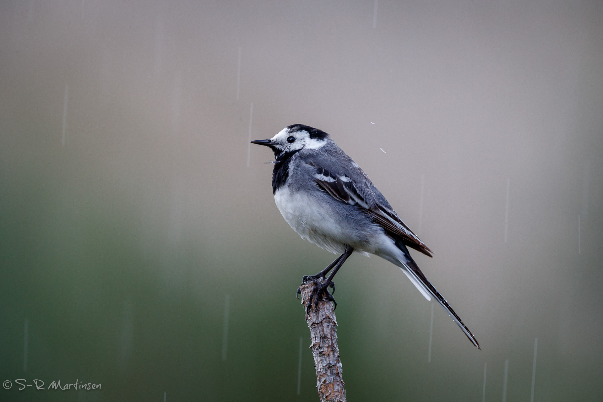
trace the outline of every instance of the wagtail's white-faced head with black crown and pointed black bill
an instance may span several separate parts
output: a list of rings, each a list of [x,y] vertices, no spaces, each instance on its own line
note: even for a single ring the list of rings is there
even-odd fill
[[[327,143],[329,134],[318,128],[303,124],[294,124],[280,130],[268,140],[254,140],[251,143],[269,146],[278,160],[281,155],[301,149],[318,149]]]

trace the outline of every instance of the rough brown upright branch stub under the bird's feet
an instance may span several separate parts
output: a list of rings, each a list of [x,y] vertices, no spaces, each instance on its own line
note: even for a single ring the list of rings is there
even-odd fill
[[[318,281],[324,281],[324,278],[318,278]],[[305,311],[308,310],[310,292],[315,286],[311,281],[300,286],[301,304]],[[337,320],[332,304],[321,297],[317,308],[312,307],[306,313],[306,322],[310,328],[320,402],[346,402],[337,346]]]

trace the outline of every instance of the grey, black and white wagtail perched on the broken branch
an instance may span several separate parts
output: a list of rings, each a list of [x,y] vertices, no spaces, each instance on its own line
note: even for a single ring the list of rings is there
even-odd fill
[[[312,298],[316,305],[321,295],[335,304],[328,287],[335,291],[332,279],[353,252],[364,256],[375,254],[399,266],[427,300],[434,297],[479,348],[475,336],[423,275],[407,247],[429,257],[431,250],[412,233],[367,174],[329,134],[294,124],[271,139],[251,143],[274,151],[272,190],[285,221],[303,239],[331,253],[343,253],[323,271],[303,278],[304,282],[317,283],[308,308]],[[333,272],[326,280],[316,281],[325,278],[331,269]]]

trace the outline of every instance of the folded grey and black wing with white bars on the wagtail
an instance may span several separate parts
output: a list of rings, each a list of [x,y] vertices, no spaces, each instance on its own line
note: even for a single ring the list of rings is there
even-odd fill
[[[412,230],[398,216],[367,174],[343,151],[332,160],[319,160],[307,154],[303,162],[316,169],[314,178],[321,189],[343,203],[361,206],[373,220],[394,238],[399,238],[406,247],[431,257],[432,251],[412,233]]]

